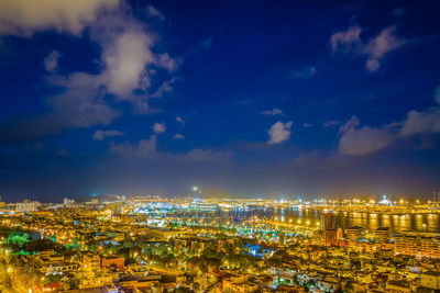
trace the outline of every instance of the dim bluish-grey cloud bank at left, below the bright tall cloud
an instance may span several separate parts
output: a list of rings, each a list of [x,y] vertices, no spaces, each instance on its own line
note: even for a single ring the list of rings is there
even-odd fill
[[[3,139],[25,142],[70,128],[108,125],[120,115],[119,111],[106,103],[94,75],[77,72],[68,77],[50,76],[48,83],[62,88],[61,93],[46,100],[51,113],[13,122],[1,129]]]

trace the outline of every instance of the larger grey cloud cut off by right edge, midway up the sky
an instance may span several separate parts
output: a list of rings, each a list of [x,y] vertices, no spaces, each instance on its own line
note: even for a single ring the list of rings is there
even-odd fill
[[[409,111],[403,122],[399,136],[407,137],[421,133],[440,133],[440,109],[431,108],[426,111]]]

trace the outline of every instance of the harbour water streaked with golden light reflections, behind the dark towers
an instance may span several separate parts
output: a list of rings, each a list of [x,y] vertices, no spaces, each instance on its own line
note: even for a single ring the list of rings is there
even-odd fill
[[[246,219],[257,216],[258,218],[277,217],[282,222],[301,223],[310,222],[310,225],[321,221],[322,212],[317,210],[294,209],[254,209],[246,212],[221,212],[220,216]],[[393,232],[400,230],[428,230],[440,232],[440,216],[438,214],[374,214],[374,213],[345,213],[346,227],[362,226],[372,232],[378,227],[391,227]]]

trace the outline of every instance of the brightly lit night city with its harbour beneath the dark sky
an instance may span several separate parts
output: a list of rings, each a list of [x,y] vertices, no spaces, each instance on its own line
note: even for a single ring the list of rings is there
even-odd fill
[[[439,195],[3,202],[1,281],[19,292],[435,292]]]

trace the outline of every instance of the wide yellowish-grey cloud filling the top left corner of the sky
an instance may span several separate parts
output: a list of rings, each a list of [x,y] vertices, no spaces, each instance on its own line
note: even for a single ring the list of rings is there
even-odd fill
[[[0,35],[32,36],[53,30],[80,35],[103,9],[117,9],[119,0],[2,0]]]

